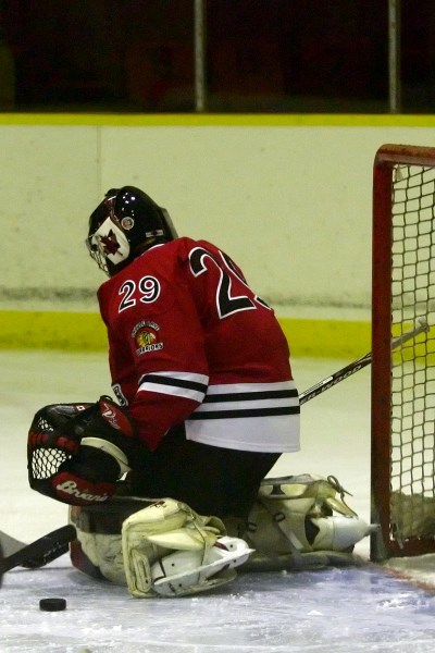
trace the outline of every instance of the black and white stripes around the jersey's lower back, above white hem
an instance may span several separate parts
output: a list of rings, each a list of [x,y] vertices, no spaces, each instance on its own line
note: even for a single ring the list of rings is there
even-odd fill
[[[210,385],[189,420],[298,415],[298,391],[293,381]]]

